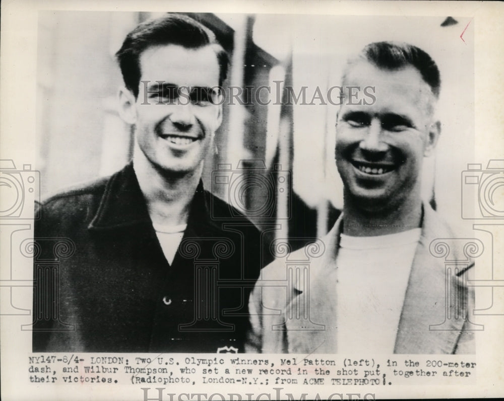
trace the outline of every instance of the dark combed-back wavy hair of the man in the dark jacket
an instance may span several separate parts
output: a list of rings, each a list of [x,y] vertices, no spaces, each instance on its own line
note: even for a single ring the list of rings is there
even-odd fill
[[[217,42],[215,34],[198,21],[183,14],[148,20],[131,31],[121,48],[115,53],[121,69],[124,85],[138,97],[140,77],[140,56],[147,48],[156,45],[179,45],[188,49],[211,46],[219,63],[219,86],[226,79],[229,58]]]

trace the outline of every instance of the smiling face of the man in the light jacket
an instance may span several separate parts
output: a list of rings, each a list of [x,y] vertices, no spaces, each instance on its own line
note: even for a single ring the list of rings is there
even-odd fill
[[[375,88],[372,105],[349,105],[338,113],[336,164],[345,202],[396,208],[420,196],[422,159],[434,147],[434,96],[412,66],[382,70],[367,61],[350,67],[345,86]]]

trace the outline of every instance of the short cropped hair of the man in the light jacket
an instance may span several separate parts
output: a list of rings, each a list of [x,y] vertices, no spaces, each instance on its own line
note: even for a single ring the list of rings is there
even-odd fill
[[[358,58],[364,58],[380,69],[391,71],[411,65],[420,72],[434,96],[439,98],[441,87],[439,69],[434,60],[416,46],[401,42],[374,42],[366,45]],[[352,61],[349,64],[352,64]],[[348,66],[345,71],[347,69]]]

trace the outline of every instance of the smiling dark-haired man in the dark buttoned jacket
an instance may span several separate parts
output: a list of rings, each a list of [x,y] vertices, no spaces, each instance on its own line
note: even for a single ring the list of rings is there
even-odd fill
[[[167,15],[117,59],[133,160],[38,205],[33,351],[242,352],[261,233],[201,182],[227,55],[206,27]]]

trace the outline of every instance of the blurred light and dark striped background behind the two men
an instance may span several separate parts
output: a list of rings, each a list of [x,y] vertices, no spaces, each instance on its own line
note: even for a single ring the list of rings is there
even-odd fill
[[[425,159],[423,197],[435,199],[446,219],[463,228],[460,174],[474,151],[472,29],[460,38],[469,19],[188,14],[214,30],[230,53],[225,86],[243,90],[241,102],[224,103],[218,153],[205,162],[208,190],[270,235],[291,238],[293,248],[309,240],[295,238],[325,234],[342,207],[334,161],[338,107],[311,102],[313,96],[317,88],[326,97],[340,85],[348,55],[365,44],[406,41],[427,51],[442,75],[442,136],[436,154]],[[114,53],[139,22],[160,15],[39,13],[36,168],[42,197],[110,175],[129,161],[133,130],[116,111],[122,78]],[[260,96],[268,105],[247,96],[261,86],[271,89]],[[296,96],[305,91],[304,104],[286,102],[285,87]],[[217,176],[228,176],[228,184]]]

